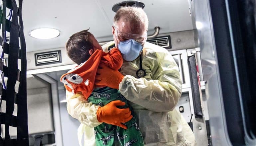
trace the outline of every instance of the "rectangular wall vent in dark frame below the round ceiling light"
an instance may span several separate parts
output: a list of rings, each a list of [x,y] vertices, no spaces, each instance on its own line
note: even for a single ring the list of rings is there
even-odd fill
[[[36,66],[61,63],[61,50],[35,54]]]

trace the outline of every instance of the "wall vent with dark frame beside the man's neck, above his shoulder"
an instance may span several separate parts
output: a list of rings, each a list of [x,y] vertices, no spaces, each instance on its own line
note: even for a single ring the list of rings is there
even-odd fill
[[[147,42],[156,44],[156,45],[164,47],[166,49],[172,48],[171,36],[155,37],[155,38],[152,38],[152,39],[148,39]]]

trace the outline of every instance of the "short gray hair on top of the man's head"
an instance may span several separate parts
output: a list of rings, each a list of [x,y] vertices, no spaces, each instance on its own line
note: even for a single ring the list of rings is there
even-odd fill
[[[144,31],[148,30],[148,17],[142,8],[121,7],[114,17],[114,26],[120,19],[133,23],[135,26],[144,27]]]

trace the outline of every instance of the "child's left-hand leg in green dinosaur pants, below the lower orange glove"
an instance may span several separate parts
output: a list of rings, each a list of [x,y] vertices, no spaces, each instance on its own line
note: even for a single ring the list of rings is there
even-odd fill
[[[97,146],[114,146],[115,126],[102,123],[94,127],[94,134]]]

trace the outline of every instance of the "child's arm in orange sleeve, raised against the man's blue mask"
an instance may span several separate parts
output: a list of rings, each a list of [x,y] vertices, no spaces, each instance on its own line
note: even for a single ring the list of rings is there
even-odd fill
[[[113,48],[110,50],[110,53],[104,53],[102,55],[101,62],[108,64],[114,70],[118,70],[123,65],[122,54],[117,48]]]

